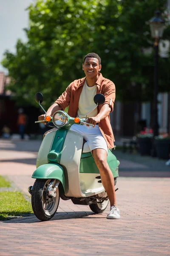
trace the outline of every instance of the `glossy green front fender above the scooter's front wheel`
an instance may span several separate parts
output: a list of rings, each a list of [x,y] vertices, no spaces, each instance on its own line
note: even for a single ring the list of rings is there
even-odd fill
[[[39,166],[33,173],[34,179],[56,179],[62,183],[65,191],[65,175],[62,166],[58,163],[47,163]]]

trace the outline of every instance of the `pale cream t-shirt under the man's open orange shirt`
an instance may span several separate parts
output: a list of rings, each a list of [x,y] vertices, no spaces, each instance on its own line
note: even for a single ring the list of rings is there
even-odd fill
[[[86,79],[84,82],[84,86],[82,88],[82,92],[79,98],[79,108],[77,111],[79,118],[85,118],[87,113],[90,112],[93,108],[96,107],[94,103],[94,96],[96,95],[96,85],[89,87],[87,85]],[[97,108],[94,109],[91,113],[88,114],[88,117],[96,116]]]

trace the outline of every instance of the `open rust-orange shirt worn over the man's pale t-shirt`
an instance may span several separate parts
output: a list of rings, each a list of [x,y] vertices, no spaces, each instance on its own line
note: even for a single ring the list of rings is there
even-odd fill
[[[85,82],[85,77],[82,79],[74,80],[59,96],[59,99],[55,101],[63,110],[68,107],[68,115],[71,117],[77,116],[78,106],[79,106],[79,98],[82,92],[82,87]],[[111,112],[113,111],[113,104],[115,101],[115,85],[109,79],[106,79],[99,73],[99,78],[96,81],[96,93],[102,93],[105,96],[105,104],[108,104],[111,107]],[[99,105],[97,107],[97,112],[99,113],[100,109],[103,105]],[[103,137],[106,140],[108,148],[114,147],[114,136],[111,128],[110,116],[108,115],[106,118],[102,119],[99,122],[99,128],[102,132]]]

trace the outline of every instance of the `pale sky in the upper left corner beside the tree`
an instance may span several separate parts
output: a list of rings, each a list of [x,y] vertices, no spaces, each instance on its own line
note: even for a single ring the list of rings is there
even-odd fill
[[[0,62],[6,50],[15,52],[17,39],[26,41],[23,28],[28,27],[28,11],[26,8],[34,0],[0,0]],[[0,64],[0,71],[7,70]]]

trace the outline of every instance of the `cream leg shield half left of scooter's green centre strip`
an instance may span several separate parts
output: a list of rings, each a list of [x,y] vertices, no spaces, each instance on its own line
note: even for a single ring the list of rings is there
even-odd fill
[[[53,143],[56,131],[57,130],[50,131],[47,135],[45,135],[44,139],[42,140],[37,156],[37,168],[42,164],[48,163],[47,155],[51,150],[51,145]]]

